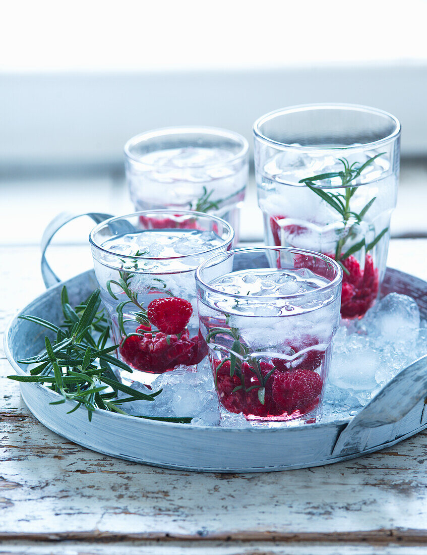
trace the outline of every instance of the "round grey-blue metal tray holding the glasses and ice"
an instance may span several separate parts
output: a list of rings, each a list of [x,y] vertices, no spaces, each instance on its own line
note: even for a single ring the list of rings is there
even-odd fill
[[[72,304],[98,286],[92,270],[65,285]],[[62,286],[50,287],[19,314],[60,324]],[[382,295],[392,291],[414,297],[421,317],[427,317],[427,282],[388,269]],[[8,327],[4,347],[16,373],[24,375],[16,361],[44,348],[44,330],[18,316]],[[71,401],[49,405],[59,396],[47,387],[20,385],[29,410],[59,435],[106,455],[179,470],[270,472],[326,465],[393,445],[427,427],[427,355],[401,371],[357,416],[297,427],[197,427],[102,410],[96,410],[89,422],[85,410],[66,414]]]

